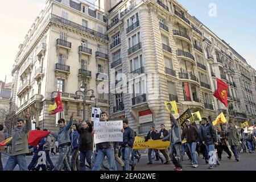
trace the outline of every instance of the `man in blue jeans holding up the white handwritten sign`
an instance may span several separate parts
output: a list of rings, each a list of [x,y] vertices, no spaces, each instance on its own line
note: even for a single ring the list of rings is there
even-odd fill
[[[108,121],[108,114],[106,112],[102,112],[100,119],[100,122]],[[98,147],[98,154],[92,171],[100,171],[105,157],[108,158],[109,171],[117,171],[117,166],[115,166],[115,152],[113,142],[97,143],[96,146]]]

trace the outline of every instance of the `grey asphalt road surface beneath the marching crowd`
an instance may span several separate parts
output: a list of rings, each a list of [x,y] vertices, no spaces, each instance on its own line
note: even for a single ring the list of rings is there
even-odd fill
[[[2,154],[2,162],[3,166],[5,167],[5,164],[8,159],[8,155]],[[57,155],[51,156],[52,162],[56,162]],[[32,156],[26,156],[27,159],[27,165],[31,162]],[[136,162],[137,160],[134,159]],[[147,154],[142,154],[141,160],[137,165],[135,166],[135,171],[172,171],[174,169],[174,165],[171,164],[161,164],[160,161],[154,161],[153,164],[148,165],[148,158]],[[197,162],[199,163],[199,167],[192,168],[191,162],[188,160],[187,155],[184,156],[183,161],[183,171],[205,171],[205,170],[212,170],[212,171],[255,171],[256,170],[256,153],[250,154],[250,153],[240,153],[240,162],[236,162],[234,160],[234,157],[232,159],[226,158],[225,152],[222,154],[222,161],[221,165],[213,168],[208,169],[209,164],[205,164],[205,160],[202,159],[202,156],[198,158],[197,156]],[[121,170],[121,167],[119,164],[117,164],[117,168]],[[16,166],[15,171],[19,170],[19,167]],[[89,171],[90,169],[88,169]]]

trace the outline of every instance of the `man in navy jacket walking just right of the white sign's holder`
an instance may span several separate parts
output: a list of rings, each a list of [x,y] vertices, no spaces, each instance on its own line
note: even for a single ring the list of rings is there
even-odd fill
[[[123,167],[123,171],[129,171],[129,164],[130,164],[130,154],[131,148],[133,148],[134,142],[134,131],[128,126],[128,121],[123,121],[123,142],[121,143],[121,154],[122,159],[125,161],[125,166]],[[131,163],[131,171],[134,170],[135,163]]]

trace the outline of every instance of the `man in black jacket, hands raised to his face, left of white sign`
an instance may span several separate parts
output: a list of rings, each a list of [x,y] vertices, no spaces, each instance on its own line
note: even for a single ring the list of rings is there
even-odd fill
[[[93,150],[93,134],[92,134],[92,123],[82,122],[82,127],[80,127],[81,118],[77,121],[76,130],[79,133],[79,151],[80,151],[80,170],[86,171],[85,159],[91,166],[92,150]]]

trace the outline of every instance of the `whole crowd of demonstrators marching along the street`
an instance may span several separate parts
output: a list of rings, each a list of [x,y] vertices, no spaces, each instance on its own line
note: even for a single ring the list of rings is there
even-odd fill
[[[51,133],[39,140],[38,144],[33,148],[34,155],[30,164],[26,164],[26,154],[28,153],[28,133],[31,129],[29,110],[24,113],[25,120],[18,119],[17,127],[13,132],[13,140],[11,141],[11,155],[7,160],[4,170],[10,171],[18,164],[20,170],[37,170],[42,168],[42,171],[85,171],[86,167],[91,168],[92,171],[109,170],[117,171],[116,163],[122,167],[123,171],[134,171],[136,164],[141,159],[139,150],[133,149],[133,143],[137,133],[129,127],[127,120],[123,121],[121,132],[123,133],[123,142],[102,142],[97,143],[94,147],[93,135],[95,133],[92,122],[82,121],[78,119],[77,123],[73,121],[71,114],[68,123],[65,119],[59,119],[59,133]],[[100,122],[108,121],[108,114],[102,112],[100,114]],[[74,124],[73,124],[74,122]],[[253,131],[249,131],[248,127],[236,127],[232,122],[217,125],[214,127],[207,118],[203,118],[200,127],[192,125],[190,119],[186,121],[187,126],[181,129],[179,122],[170,114],[171,129],[167,131],[165,126],[160,125],[161,130],[150,127],[150,131],[145,137],[145,141],[163,140],[170,141],[170,147],[166,150],[148,149],[147,164],[152,164],[152,155],[154,152],[156,160],[161,160],[163,164],[163,157],[166,159],[164,164],[174,164],[175,171],[183,170],[184,154],[187,154],[189,160],[192,162],[192,167],[197,168],[200,163],[197,161],[196,152],[203,155],[205,163],[209,163],[209,169],[220,165],[223,151],[228,155],[228,159],[234,156],[237,162],[240,161],[240,152],[255,151],[255,137],[256,126]],[[2,137],[3,126],[0,125],[0,142],[5,139]],[[40,130],[36,128],[36,130]],[[44,129],[47,131],[47,129]],[[57,147],[59,155],[55,165],[53,165],[50,152],[52,144],[54,143],[51,135],[57,140]],[[185,142],[183,142],[185,141]],[[0,147],[1,152],[4,147]],[[93,151],[94,150],[94,151]],[[217,151],[217,152],[216,152]],[[52,152],[51,152],[52,153]],[[70,157],[71,156],[71,157]],[[137,159],[135,162],[134,159]],[[87,165],[87,164],[88,165]],[[0,171],[3,168],[0,160]]]

